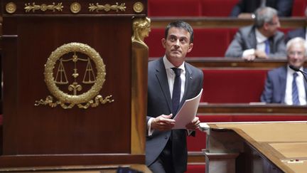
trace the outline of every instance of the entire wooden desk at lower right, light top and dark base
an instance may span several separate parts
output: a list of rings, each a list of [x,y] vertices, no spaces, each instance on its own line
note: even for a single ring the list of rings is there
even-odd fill
[[[307,170],[307,123],[211,122],[206,172],[296,172]]]

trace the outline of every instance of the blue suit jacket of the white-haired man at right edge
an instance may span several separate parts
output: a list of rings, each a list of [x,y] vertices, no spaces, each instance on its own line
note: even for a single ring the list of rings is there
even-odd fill
[[[306,71],[307,68],[304,68]],[[286,75],[287,66],[280,68],[274,68],[269,70],[266,76],[266,82],[264,85],[264,91],[260,100],[265,103],[284,103],[286,93]],[[307,83],[304,80],[305,91],[307,94]]]

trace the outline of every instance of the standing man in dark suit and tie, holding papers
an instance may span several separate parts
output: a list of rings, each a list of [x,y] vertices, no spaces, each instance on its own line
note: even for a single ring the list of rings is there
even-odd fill
[[[188,23],[169,23],[162,45],[166,49],[165,56],[149,62],[146,165],[156,173],[182,173],[186,171],[188,157],[186,136],[198,129],[200,121],[195,117],[185,126],[186,130],[172,130],[176,123],[173,115],[185,100],[200,93],[203,72],[185,62],[186,53],[193,48],[193,29]],[[174,84],[178,78],[181,83],[179,94],[176,94],[174,91],[178,91],[178,87]],[[174,102],[176,98],[178,103]]]

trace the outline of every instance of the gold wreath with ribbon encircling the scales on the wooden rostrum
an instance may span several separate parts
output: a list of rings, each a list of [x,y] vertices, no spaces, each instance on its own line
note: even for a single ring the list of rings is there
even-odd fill
[[[94,85],[92,88],[85,93],[80,95],[70,95],[68,93],[64,93],[62,90],[58,88],[55,83],[55,79],[53,77],[53,69],[55,68],[55,63],[65,54],[71,52],[79,52],[84,53],[85,55],[89,56],[91,60],[95,63],[97,69],[97,77],[95,80]],[[36,101],[35,105],[49,105],[50,107],[55,107],[57,105],[61,105],[62,108],[72,108],[74,105],[77,105],[79,108],[88,108],[88,107],[97,107],[99,102],[104,103],[111,103],[114,100],[110,100],[112,95],[107,96],[106,98],[102,98],[99,94],[99,91],[102,89],[102,85],[104,84],[105,80],[105,65],[102,61],[102,58],[99,56],[99,53],[95,51],[95,49],[91,48],[90,46],[83,44],[83,43],[68,43],[60,46],[55,51],[53,51],[47,63],[45,64],[45,83],[48,87],[48,90],[58,101],[53,103],[53,97],[48,95],[45,100]],[[95,98],[94,100],[92,100]],[[82,105],[85,103],[85,105]],[[67,105],[69,104],[69,105]]]

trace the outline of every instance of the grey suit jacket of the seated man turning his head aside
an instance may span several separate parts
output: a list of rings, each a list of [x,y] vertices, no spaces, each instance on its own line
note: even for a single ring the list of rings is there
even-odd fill
[[[235,38],[228,46],[225,53],[226,57],[241,58],[243,51],[250,48],[257,48],[256,28],[254,26],[245,26],[239,28]],[[286,59],[286,46],[284,43],[284,33],[277,31],[275,35],[269,38],[270,51],[269,58]]]

